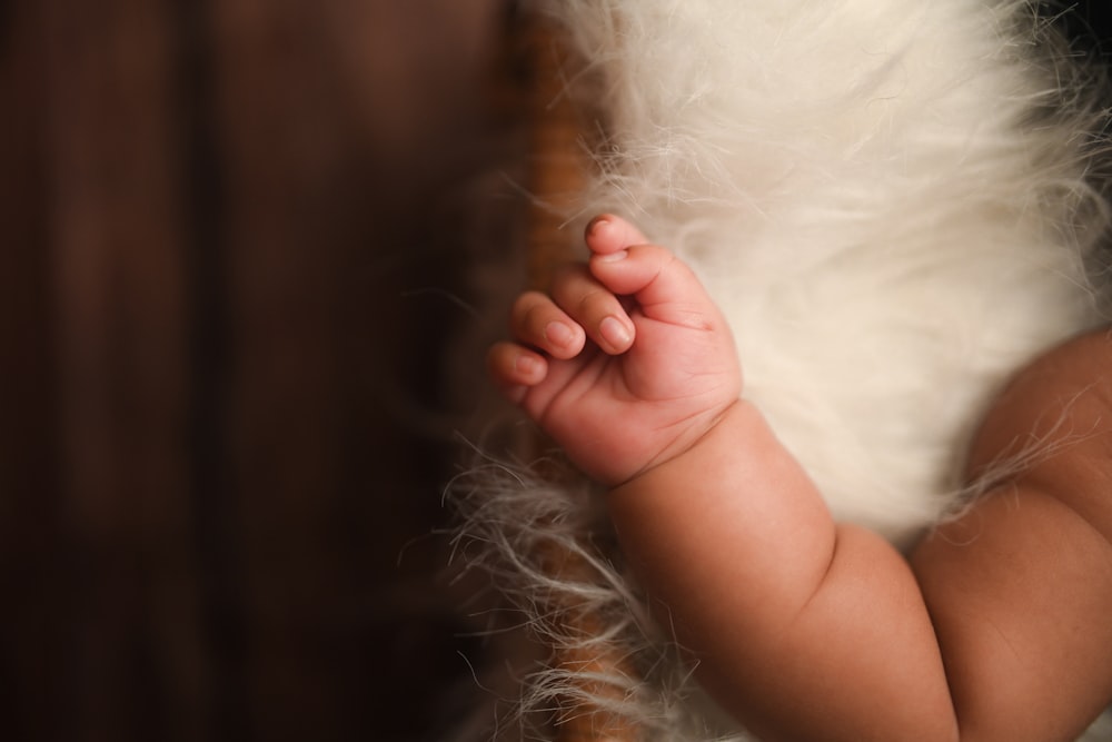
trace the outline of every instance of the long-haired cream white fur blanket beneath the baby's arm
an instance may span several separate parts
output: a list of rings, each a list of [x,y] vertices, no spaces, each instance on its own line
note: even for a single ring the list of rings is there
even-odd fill
[[[609,210],[694,267],[745,396],[836,517],[905,546],[975,494],[964,452],[1001,385],[1108,319],[1099,76],[1030,2],[533,6],[567,31],[566,95],[597,121],[567,239]],[[488,462],[450,492],[532,626],[636,659],[644,679],[608,681],[614,713],[644,739],[715,735],[589,485]],[[587,576],[554,580],[548,542],[583,551]],[[612,623],[565,635],[562,611],[584,603]],[[564,670],[526,684],[527,710],[575,696]]]

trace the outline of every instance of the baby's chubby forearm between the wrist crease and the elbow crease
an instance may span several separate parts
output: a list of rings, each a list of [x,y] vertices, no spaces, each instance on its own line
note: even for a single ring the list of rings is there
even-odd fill
[[[735,405],[686,454],[615,489],[610,506],[662,622],[755,731],[953,735],[906,563],[873,534],[835,525],[753,407]]]

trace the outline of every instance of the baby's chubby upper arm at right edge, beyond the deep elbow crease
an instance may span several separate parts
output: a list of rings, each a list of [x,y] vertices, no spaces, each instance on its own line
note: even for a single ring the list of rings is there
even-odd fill
[[[1112,702],[1112,336],[1021,372],[971,452],[1034,454],[912,555],[970,739],[1073,740]]]

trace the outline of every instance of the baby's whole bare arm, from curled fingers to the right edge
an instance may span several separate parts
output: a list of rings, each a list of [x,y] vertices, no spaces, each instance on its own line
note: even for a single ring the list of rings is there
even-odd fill
[[[618,217],[586,244],[518,298],[490,372],[608,485],[654,611],[726,710],[767,740],[1048,742],[1112,702],[1108,334],[1013,379],[970,475],[1023,442],[1046,455],[905,557],[832,518],[687,266]]]

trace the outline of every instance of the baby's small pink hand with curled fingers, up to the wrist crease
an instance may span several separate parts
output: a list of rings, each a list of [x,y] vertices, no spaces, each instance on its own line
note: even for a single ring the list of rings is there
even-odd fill
[[[613,216],[587,228],[592,257],[510,313],[489,354],[506,388],[572,461],[617,485],[686,452],[737,400],[725,319],[691,269]]]

